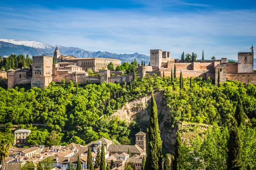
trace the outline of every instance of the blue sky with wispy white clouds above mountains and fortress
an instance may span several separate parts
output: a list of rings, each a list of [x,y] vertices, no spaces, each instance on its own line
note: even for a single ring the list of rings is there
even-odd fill
[[[256,46],[255,0],[1,0],[0,38],[113,53],[237,59]]]

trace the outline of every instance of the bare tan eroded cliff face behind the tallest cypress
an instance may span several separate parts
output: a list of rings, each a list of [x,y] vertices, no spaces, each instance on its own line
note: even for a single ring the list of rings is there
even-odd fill
[[[166,151],[173,153],[178,126],[176,125],[172,128],[170,125],[171,114],[166,101],[163,99],[163,92],[156,92],[154,98],[157,103],[158,122],[163,147]],[[112,116],[118,116],[121,120],[126,120],[128,123],[135,121],[144,127],[143,129],[146,129],[148,127],[150,107],[151,95],[148,95],[128,102]]]

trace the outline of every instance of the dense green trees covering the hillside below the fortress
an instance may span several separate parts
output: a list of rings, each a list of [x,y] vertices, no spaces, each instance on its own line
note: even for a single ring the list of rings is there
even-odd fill
[[[113,139],[117,144],[129,144],[130,132],[138,130],[140,125],[133,121],[128,125],[110,115],[132,99],[148,95],[152,91],[163,91],[163,98],[172,117],[170,122],[159,117],[159,121],[166,121],[166,127],[172,129],[178,121],[213,125],[213,128],[209,126],[209,130],[201,136],[182,145],[184,166],[191,169],[196,168],[195,166],[205,168],[214,167],[212,162],[223,163],[227,158],[227,129],[232,126],[240,97],[246,118],[245,126],[239,127],[243,144],[243,166],[256,160],[253,156],[256,155],[256,133],[253,129],[256,126],[255,85],[225,82],[217,87],[212,85],[210,79],[192,78],[184,79],[180,89],[178,78],[172,82],[170,77],[135,77],[132,83],[122,85],[102,83],[79,86],[81,87],[73,82],[52,82],[43,90],[0,88],[0,123],[12,122],[20,126],[30,123],[47,124],[47,129],[37,129],[31,125],[26,127],[32,130],[28,140],[31,144],[85,144],[101,137]],[[10,140],[13,139],[7,127],[4,134]],[[50,136],[55,137],[50,139]],[[195,157],[203,158],[204,162],[196,161]],[[194,163],[188,165],[188,162]],[[218,168],[216,165],[215,169]]]

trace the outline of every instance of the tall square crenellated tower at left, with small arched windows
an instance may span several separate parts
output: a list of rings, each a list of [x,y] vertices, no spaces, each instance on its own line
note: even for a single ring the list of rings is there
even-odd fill
[[[47,87],[52,82],[52,56],[33,56],[32,62],[31,87]]]

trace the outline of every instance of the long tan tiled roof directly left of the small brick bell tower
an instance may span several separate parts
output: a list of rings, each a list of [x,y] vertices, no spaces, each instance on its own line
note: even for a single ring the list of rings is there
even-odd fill
[[[108,147],[109,152],[125,152],[128,153],[128,149],[130,149],[131,153],[134,154],[141,154],[144,152],[144,150],[138,146],[137,144],[135,145],[124,145],[124,144],[111,144]]]

